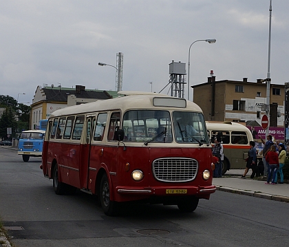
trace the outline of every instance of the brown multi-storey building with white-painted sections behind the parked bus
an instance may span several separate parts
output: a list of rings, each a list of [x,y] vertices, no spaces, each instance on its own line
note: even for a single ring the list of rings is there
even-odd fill
[[[266,111],[266,82],[248,82],[247,78],[215,80],[192,86],[193,101],[204,111],[207,121],[255,121],[261,126]],[[270,126],[284,127],[285,85],[270,84]]]

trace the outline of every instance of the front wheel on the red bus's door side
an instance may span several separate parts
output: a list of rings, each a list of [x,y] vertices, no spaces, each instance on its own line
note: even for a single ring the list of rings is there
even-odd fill
[[[109,180],[106,173],[103,174],[103,178],[101,178],[98,197],[100,205],[106,215],[114,216],[117,214],[117,202],[110,200]]]

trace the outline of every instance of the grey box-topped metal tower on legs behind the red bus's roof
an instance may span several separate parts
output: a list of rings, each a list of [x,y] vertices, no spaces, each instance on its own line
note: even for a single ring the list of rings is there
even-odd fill
[[[184,98],[184,75],[186,74],[186,63],[169,64],[169,83],[171,83],[171,96]]]

